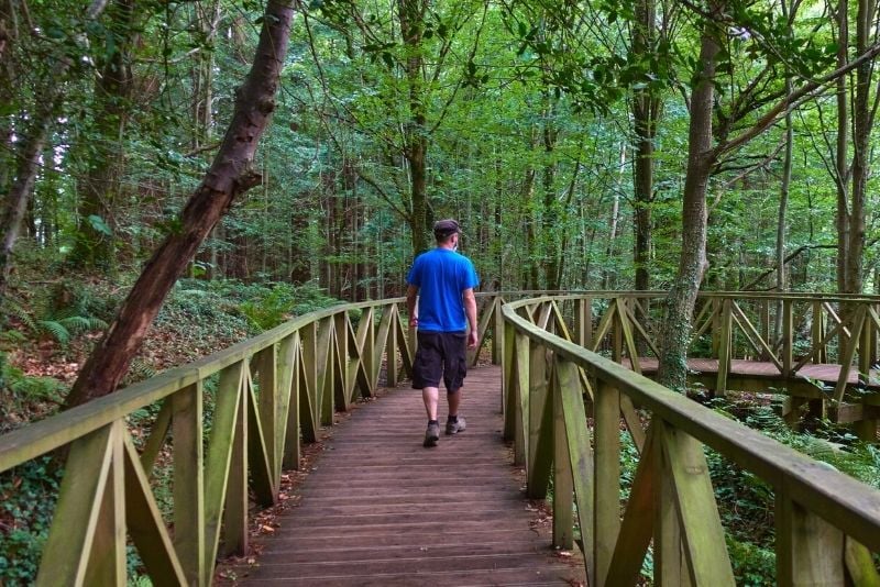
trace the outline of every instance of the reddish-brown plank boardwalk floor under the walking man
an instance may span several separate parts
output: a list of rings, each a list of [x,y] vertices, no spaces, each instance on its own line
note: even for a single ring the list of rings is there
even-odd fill
[[[332,429],[300,505],[262,540],[239,585],[583,585],[580,556],[551,549],[502,442],[501,369],[472,369],[468,430],[421,445],[421,395],[402,387]],[[440,419],[446,420],[441,394]]]

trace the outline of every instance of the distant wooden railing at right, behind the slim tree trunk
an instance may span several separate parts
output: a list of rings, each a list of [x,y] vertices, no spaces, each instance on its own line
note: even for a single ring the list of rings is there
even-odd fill
[[[556,299],[575,342],[652,375],[664,297],[595,291]],[[815,416],[851,423],[860,438],[876,440],[878,339],[877,297],[701,294],[689,347],[691,378],[715,394],[772,387],[789,396],[783,413],[790,421],[807,405]]]

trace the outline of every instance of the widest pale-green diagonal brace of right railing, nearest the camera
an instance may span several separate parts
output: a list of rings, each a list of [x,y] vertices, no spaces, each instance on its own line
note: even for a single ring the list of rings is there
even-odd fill
[[[703,447],[680,430],[659,430],[675,492],[691,584],[736,585]]]

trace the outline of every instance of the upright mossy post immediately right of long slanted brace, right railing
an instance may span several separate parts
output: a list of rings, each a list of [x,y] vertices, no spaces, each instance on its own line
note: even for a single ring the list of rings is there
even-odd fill
[[[595,452],[596,577],[605,577],[620,532],[620,392],[605,381],[596,386],[593,403]]]

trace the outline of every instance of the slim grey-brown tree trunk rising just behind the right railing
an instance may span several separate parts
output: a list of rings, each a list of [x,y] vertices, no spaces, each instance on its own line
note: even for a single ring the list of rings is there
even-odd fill
[[[679,272],[666,300],[666,318],[660,332],[658,380],[672,389],[684,390],[688,383],[688,345],[691,340],[696,295],[703,281],[706,261],[706,185],[715,163],[712,148],[712,103],[715,59],[718,43],[706,25],[700,49],[701,74],[691,97],[691,125],[688,142],[688,175],[682,202],[682,243]]]

